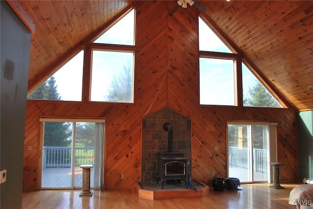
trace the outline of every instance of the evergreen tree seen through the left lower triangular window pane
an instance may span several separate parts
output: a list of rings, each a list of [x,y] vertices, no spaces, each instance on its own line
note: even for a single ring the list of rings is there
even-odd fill
[[[30,100],[62,100],[55,84],[55,78],[51,76],[44,84],[28,95]]]

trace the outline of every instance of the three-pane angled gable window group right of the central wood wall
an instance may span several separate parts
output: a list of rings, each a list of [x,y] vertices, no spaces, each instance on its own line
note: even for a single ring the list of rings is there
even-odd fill
[[[200,104],[282,107],[242,63],[242,56],[232,51],[236,50],[230,50],[199,17]],[[242,81],[242,89],[237,81]],[[240,91],[242,101],[238,101]]]

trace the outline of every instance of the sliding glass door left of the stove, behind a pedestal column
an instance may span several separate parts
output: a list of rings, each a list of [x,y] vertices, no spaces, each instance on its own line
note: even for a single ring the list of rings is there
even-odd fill
[[[82,188],[81,165],[93,165],[90,187],[101,188],[103,120],[43,119],[42,126],[41,188]]]

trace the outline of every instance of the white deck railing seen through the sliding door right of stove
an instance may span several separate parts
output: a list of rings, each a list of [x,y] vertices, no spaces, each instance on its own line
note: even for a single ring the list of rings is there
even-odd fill
[[[248,168],[248,148],[228,146],[229,166]],[[256,172],[268,172],[268,150],[253,149],[253,170]]]

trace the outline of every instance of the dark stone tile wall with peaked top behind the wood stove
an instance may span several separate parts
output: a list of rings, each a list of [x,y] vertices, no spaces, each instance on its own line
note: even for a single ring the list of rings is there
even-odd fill
[[[173,126],[173,152],[184,153],[191,162],[191,120],[170,108],[162,109],[142,120],[142,182],[157,181],[157,153],[167,152],[165,123]],[[191,172],[190,167],[191,164],[188,173]]]

